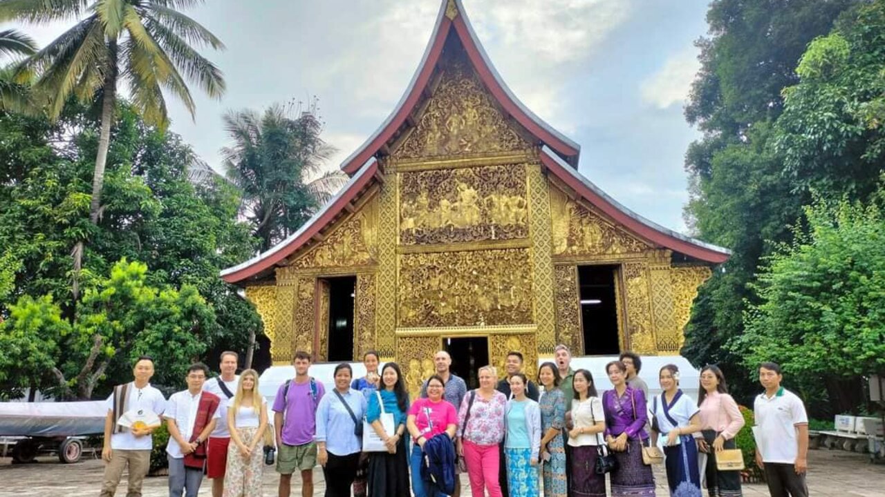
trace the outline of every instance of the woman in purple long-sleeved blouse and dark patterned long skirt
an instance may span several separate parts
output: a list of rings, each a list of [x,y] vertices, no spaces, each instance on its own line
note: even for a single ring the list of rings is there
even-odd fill
[[[627,385],[627,366],[620,361],[605,364],[614,388],[603,394],[605,442],[618,459],[612,472],[612,497],[648,497],[655,494],[655,477],[643,463],[643,443],[649,436],[643,428],[648,409],[642,390]]]

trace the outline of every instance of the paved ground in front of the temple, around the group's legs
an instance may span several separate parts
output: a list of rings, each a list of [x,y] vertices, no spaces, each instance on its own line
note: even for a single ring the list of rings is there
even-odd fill
[[[808,483],[814,497],[885,497],[885,465],[873,465],[866,455],[839,450],[812,450],[809,453]],[[58,459],[45,457],[39,463],[27,465],[10,464],[8,458],[0,460],[0,496],[16,497],[96,497],[98,495],[103,465],[101,461],[88,460],[76,464],[61,464]],[[666,496],[666,478],[658,470],[658,495]],[[314,472],[317,485],[315,495],[322,495],[325,484],[322,471]],[[265,495],[277,494],[277,478],[273,470],[265,474]],[[296,478],[297,479],[297,478]],[[464,492],[470,495],[466,477],[462,479]],[[144,497],[168,495],[166,478],[148,478],[144,483]],[[126,494],[125,483],[118,495]],[[200,489],[200,497],[209,496],[208,480]],[[747,497],[768,495],[766,486],[746,485]],[[301,496],[300,487],[293,488],[294,497]]]

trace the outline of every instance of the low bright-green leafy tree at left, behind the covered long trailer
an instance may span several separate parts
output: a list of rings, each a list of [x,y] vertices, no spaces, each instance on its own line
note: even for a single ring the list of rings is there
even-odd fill
[[[125,377],[147,354],[161,365],[155,381],[175,385],[212,343],[215,325],[195,287],[152,287],[147,265],[123,259],[86,287],[73,325],[49,295],[19,299],[0,328],[0,369],[20,371],[19,387],[27,379],[60,398],[89,399],[105,378]]]

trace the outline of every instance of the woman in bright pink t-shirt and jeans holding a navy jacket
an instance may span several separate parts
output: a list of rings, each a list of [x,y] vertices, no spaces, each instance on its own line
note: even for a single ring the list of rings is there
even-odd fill
[[[415,442],[409,465],[412,468],[412,493],[415,497],[442,497],[444,494],[429,481],[421,478],[421,455],[424,444],[435,435],[446,433],[455,438],[458,429],[458,413],[455,406],[443,399],[445,382],[439,375],[427,380],[427,399],[418,399],[409,409],[405,426]]]

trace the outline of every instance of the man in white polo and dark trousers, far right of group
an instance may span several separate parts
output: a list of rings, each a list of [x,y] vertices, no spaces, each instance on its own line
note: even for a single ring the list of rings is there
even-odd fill
[[[772,497],[807,497],[808,416],[802,400],[781,386],[781,366],[759,365],[766,391],[753,404],[756,415],[756,464],[766,470]]]

